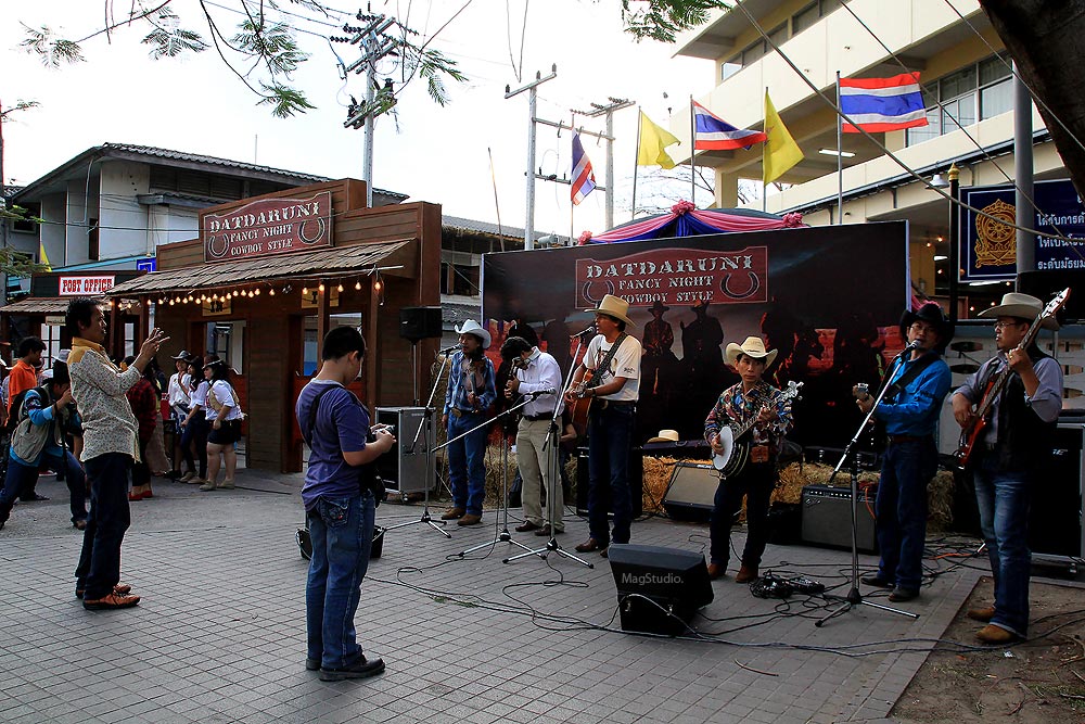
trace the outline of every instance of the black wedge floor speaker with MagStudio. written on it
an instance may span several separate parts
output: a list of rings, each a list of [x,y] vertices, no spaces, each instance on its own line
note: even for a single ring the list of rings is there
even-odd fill
[[[703,554],[614,543],[607,551],[622,631],[680,636],[701,607],[712,602]]]

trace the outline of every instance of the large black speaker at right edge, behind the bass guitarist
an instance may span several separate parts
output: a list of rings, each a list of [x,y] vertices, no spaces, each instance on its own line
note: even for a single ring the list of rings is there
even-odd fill
[[[1032,496],[1029,547],[1035,555],[1080,558],[1082,488],[1085,485],[1085,422],[1059,420],[1049,466],[1039,473]]]

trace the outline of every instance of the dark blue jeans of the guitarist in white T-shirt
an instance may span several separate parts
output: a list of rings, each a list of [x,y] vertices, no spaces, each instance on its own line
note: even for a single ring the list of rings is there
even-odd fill
[[[633,404],[603,407],[597,402],[588,415],[588,535],[601,546],[629,542],[629,450],[635,420]],[[614,513],[613,535],[608,510]]]

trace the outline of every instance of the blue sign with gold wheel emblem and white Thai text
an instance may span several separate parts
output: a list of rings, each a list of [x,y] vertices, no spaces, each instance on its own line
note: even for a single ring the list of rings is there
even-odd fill
[[[1017,276],[1016,198],[1012,186],[961,190],[961,281],[1001,281]],[[1036,269],[1085,269],[1085,203],[1069,180],[1037,181],[1029,226],[1036,234]],[[978,209],[982,214],[976,213]],[[1005,223],[999,223],[1005,221]],[[1077,241],[1081,240],[1081,241]]]

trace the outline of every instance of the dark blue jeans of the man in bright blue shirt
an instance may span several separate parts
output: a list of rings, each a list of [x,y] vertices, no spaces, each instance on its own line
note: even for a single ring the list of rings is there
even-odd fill
[[[881,561],[878,575],[919,590],[927,538],[927,484],[939,469],[934,437],[890,443],[882,457],[875,516]]]

